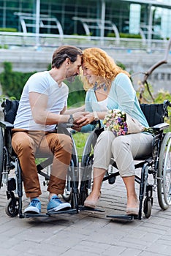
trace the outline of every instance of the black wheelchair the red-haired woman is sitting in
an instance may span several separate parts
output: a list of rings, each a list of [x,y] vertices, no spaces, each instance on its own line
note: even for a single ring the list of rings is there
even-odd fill
[[[146,218],[151,216],[153,206],[153,191],[157,189],[159,206],[166,210],[171,205],[171,132],[164,132],[170,126],[164,123],[164,118],[168,117],[168,107],[171,103],[165,100],[163,104],[141,104],[142,112],[147,118],[149,127],[153,129],[155,136],[153,138],[152,154],[145,159],[134,159],[135,169],[140,168],[140,176],[135,175],[135,182],[140,185],[139,189],[139,214],[137,217],[129,215],[107,215],[107,217],[116,219],[142,219],[142,208]],[[88,135],[83,157],[81,159],[81,183],[79,193],[79,205],[83,206],[86,197],[91,192],[92,165],[94,162],[94,146],[99,134],[104,127],[99,125]],[[115,167],[115,168],[114,168]],[[152,175],[153,184],[148,181],[148,176]],[[110,166],[103,178],[109,184],[115,183],[116,176],[119,176],[119,170],[114,159],[110,160]],[[88,211],[94,209],[86,208]],[[96,211],[98,209],[95,208]]]

